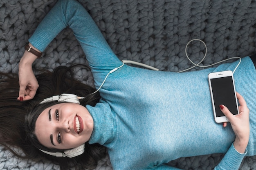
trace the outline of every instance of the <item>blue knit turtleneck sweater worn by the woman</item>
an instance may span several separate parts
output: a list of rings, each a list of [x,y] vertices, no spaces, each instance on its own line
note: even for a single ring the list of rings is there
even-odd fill
[[[122,65],[85,9],[74,0],[60,0],[29,39],[44,51],[69,26],[89,61],[99,88],[110,70]],[[249,57],[234,73],[236,90],[250,109],[247,153],[238,153],[231,126],[213,118],[207,75],[234,70],[238,61],[194,72],[157,72],[124,65],[100,89],[101,100],[87,106],[94,120],[89,143],[108,148],[114,169],[177,169],[165,165],[179,157],[225,153],[216,169],[238,169],[244,156],[256,155],[256,71]]]

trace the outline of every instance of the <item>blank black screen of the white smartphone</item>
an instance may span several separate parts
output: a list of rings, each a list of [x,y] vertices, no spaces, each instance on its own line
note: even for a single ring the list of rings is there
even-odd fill
[[[238,114],[232,76],[212,78],[211,89],[216,117],[225,116],[219,108],[220,105],[225,105],[234,115]]]

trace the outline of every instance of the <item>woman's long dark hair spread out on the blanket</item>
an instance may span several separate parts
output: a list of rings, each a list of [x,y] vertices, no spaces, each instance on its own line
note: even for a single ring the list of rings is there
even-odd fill
[[[4,92],[4,96],[0,99],[0,125],[2,125],[1,127],[6,127],[5,130],[1,129],[0,131],[0,135],[3,137],[0,139],[1,144],[9,150],[11,150],[9,146],[18,146],[22,148],[26,154],[25,158],[42,159],[42,157],[45,157],[50,159],[54,163],[58,163],[61,169],[67,169],[67,167],[75,169],[94,169],[97,166],[98,160],[106,155],[106,148],[104,146],[99,144],[88,144],[88,142],[86,142],[85,152],[82,155],[74,158],[53,157],[41,152],[38,148],[50,152],[60,152],[62,150],[46,148],[38,142],[38,139],[34,134],[35,122],[39,114],[47,107],[57,104],[57,102],[39,104],[44,98],[63,93],[70,93],[76,94],[77,96],[86,96],[85,99],[80,101],[83,106],[94,106],[99,102],[99,93],[92,94],[92,92],[95,91],[94,88],[85,85],[74,78],[72,68],[77,66],[78,65],[73,65],[72,67],[60,66],[53,72],[46,70],[41,71],[40,74],[36,76],[39,83],[36,96],[33,100],[23,102],[17,100],[19,90],[18,76],[15,74],[1,74],[3,79],[1,78],[0,81],[0,93],[1,96],[3,96],[2,92]],[[10,93],[11,96],[8,96]],[[11,112],[11,115],[8,111]],[[15,118],[14,121],[17,126],[15,126],[14,129],[13,121],[11,120],[9,120],[9,122],[11,121],[11,125],[9,125],[9,127],[6,126],[8,125],[8,122],[5,122],[5,120],[8,120],[8,118]],[[13,150],[11,151],[16,156],[21,157]]]

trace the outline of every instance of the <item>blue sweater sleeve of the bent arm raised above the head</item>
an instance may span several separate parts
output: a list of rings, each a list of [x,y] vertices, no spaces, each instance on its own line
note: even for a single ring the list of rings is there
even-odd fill
[[[76,0],[58,0],[36,28],[29,42],[43,52],[66,27],[72,29],[92,68],[120,65],[121,61],[112,52],[94,20]]]

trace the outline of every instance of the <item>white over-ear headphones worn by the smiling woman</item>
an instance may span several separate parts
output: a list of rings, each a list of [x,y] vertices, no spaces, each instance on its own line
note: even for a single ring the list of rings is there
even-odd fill
[[[79,99],[82,99],[83,97],[78,97],[74,94],[61,94],[60,96],[52,96],[49,98],[45,98],[42,102],[40,102],[40,104],[42,103],[46,103],[46,102],[51,102],[51,101],[56,101],[58,100],[58,102],[72,102],[72,103],[77,103],[80,104]],[[48,152],[45,150],[41,150],[43,153],[52,155],[52,156],[56,156],[56,157],[76,157],[78,155],[81,155],[84,153],[84,148],[85,148],[85,144],[82,144],[81,146],[78,146],[76,148],[70,149],[70,150],[64,150],[63,153],[62,152]]]

